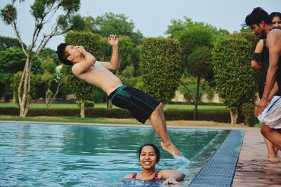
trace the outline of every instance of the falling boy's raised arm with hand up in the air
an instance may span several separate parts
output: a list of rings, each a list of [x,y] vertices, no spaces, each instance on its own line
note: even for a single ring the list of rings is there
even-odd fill
[[[110,62],[101,62],[103,67],[110,70],[116,70],[119,67],[119,55],[118,55],[118,36],[110,35],[108,37],[108,43],[112,46],[112,56]]]

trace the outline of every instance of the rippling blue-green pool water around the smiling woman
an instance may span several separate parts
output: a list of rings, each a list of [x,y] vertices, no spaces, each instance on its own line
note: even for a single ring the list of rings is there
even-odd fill
[[[156,169],[177,169],[188,184],[228,135],[228,130],[169,128],[185,158],[160,148],[151,127],[0,123],[0,186],[161,186],[123,180],[139,172],[138,147],[156,144]]]

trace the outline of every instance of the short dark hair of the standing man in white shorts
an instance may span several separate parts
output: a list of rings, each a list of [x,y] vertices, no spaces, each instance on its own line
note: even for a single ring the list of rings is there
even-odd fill
[[[263,8],[256,7],[250,14],[246,16],[243,27],[251,26],[254,24],[259,25],[261,21],[265,22],[267,25],[270,25],[272,23],[268,13],[264,11]]]

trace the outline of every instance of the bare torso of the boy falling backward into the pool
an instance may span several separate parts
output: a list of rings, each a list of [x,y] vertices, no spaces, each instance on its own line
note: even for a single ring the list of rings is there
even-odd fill
[[[75,69],[79,69],[79,63],[77,63],[73,65],[72,72],[75,76],[78,76],[91,85],[101,88],[107,95],[110,95],[111,92],[122,85],[122,82],[117,76],[112,74],[111,71],[106,69],[103,63],[106,62],[96,61],[95,64],[86,69],[84,73],[75,74]]]

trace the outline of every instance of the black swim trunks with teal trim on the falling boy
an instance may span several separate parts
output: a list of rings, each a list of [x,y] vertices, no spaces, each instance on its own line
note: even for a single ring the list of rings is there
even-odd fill
[[[133,117],[141,123],[145,123],[150,118],[151,113],[160,104],[151,95],[127,85],[122,85],[111,92],[108,99],[115,106],[128,109]]]

